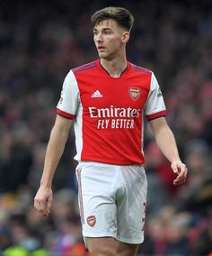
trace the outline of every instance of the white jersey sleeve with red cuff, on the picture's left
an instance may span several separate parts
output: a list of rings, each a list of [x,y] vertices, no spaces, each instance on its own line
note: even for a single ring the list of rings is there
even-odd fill
[[[57,114],[66,118],[75,117],[79,105],[79,88],[72,70],[66,75],[61,91],[61,96],[57,104]]]

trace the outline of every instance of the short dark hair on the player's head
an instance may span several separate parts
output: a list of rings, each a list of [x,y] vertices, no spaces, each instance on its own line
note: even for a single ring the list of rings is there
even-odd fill
[[[93,27],[104,20],[114,20],[119,26],[127,29],[129,32],[134,23],[134,17],[123,7],[109,6],[103,8],[92,15],[91,23]]]

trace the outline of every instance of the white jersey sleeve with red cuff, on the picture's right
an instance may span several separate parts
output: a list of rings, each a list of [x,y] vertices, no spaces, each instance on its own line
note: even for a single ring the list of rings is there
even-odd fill
[[[152,73],[150,91],[146,102],[145,115],[147,120],[155,119],[166,114],[163,94],[154,73]]]

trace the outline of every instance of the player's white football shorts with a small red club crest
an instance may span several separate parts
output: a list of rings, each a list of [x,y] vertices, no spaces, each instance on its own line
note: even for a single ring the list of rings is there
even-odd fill
[[[142,165],[81,161],[76,176],[84,237],[144,241],[147,182]]]

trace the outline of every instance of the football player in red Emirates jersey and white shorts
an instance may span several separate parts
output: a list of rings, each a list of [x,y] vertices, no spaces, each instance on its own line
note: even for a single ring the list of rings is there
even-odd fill
[[[79,206],[91,255],[135,255],[144,240],[144,117],[176,173],[173,184],[181,185],[187,175],[164,118],[163,96],[154,73],[127,60],[133,21],[121,7],[93,14],[93,40],[100,59],[66,76],[34,200],[36,209],[49,215],[52,178],[74,123]]]

